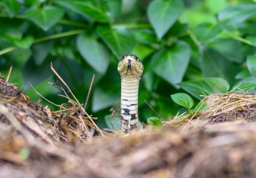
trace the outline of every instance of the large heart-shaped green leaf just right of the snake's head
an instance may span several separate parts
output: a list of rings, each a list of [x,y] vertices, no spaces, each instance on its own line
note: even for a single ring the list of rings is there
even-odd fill
[[[169,83],[180,83],[190,60],[190,46],[183,41],[175,43],[171,49],[161,49],[152,57],[154,72]]]

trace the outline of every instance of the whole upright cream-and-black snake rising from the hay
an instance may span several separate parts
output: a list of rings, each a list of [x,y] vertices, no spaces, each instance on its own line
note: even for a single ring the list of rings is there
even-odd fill
[[[144,66],[136,55],[124,55],[117,70],[121,76],[121,132],[129,133],[139,126],[138,94]]]

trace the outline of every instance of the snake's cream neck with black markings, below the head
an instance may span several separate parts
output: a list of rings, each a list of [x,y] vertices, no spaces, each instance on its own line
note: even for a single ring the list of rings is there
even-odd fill
[[[121,131],[128,133],[137,128],[138,93],[140,79],[121,79]]]

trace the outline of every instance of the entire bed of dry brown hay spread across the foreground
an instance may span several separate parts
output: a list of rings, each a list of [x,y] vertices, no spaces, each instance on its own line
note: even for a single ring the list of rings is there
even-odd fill
[[[212,95],[209,109],[163,129],[92,139],[76,101],[50,112],[0,78],[0,177],[256,177],[254,100]]]

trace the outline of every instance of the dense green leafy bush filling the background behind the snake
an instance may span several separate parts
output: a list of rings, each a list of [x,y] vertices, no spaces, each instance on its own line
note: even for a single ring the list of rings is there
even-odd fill
[[[80,102],[95,74],[87,108],[105,127],[120,107],[118,61],[135,54],[145,66],[141,121],[156,116],[144,100],[171,119],[184,109],[171,94],[198,103],[213,91],[255,91],[255,14],[249,0],[1,0],[0,71],[6,77],[14,65],[10,82],[37,100],[30,81],[58,104],[67,101],[47,85],[56,80],[50,62]]]

